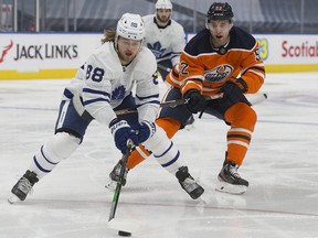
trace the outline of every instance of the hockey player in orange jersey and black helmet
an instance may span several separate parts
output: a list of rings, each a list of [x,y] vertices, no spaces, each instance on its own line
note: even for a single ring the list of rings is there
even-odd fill
[[[233,15],[226,2],[214,2],[210,7],[205,29],[187,44],[180,64],[166,78],[172,87],[163,101],[184,98],[188,102],[162,108],[156,123],[171,138],[192,113],[210,113],[224,120],[230,126],[227,151],[216,190],[243,194],[248,182],[241,177],[237,169],[244,161],[257,120],[244,94],[258,91],[265,68],[257,41],[233,26]],[[128,160],[127,172],[149,155],[142,147],[137,148]],[[117,180],[119,169],[120,161],[109,174],[113,181]]]

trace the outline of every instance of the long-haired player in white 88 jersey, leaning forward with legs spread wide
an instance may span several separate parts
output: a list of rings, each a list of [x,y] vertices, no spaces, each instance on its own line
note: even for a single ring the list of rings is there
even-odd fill
[[[180,152],[155,125],[159,108],[157,64],[142,45],[145,24],[140,15],[126,13],[115,31],[107,31],[98,47],[64,90],[55,134],[40,147],[24,175],[11,190],[9,202],[24,201],[33,185],[49,174],[82,143],[92,120],[109,127],[116,147],[126,152],[127,141],[142,143],[157,161],[177,176],[192,198],[204,190],[191,177]],[[131,89],[136,85],[136,96]],[[116,110],[137,108],[116,116]],[[138,133],[136,133],[138,131]]]

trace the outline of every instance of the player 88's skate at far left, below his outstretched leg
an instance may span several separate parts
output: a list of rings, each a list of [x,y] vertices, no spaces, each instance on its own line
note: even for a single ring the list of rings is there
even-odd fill
[[[19,199],[24,201],[26,195],[32,192],[32,187],[38,181],[36,174],[28,170],[12,187],[8,202],[13,204]]]

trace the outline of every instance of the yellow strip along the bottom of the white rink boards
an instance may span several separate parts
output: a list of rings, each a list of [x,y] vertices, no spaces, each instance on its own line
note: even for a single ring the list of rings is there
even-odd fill
[[[318,72],[318,64],[265,65],[266,73]],[[77,68],[40,69],[39,72],[0,71],[0,80],[73,78]]]

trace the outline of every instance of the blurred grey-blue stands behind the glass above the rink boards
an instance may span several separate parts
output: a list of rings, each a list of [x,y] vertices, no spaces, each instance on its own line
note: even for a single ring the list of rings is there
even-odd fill
[[[219,0],[222,1],[222,0]],[[186,32],[204,28],[211,0],[172,0]],[[224,2],[224,1],[223,1]],[[234,23],[251,33],[318,33],[317,0],[227,0]],[[156,0],[0,0],[1,31],[100,32],[125,12],[155,13]],[[17,8],[17,17],[8,8]],[[6,12],[7,11],[7,12]]]

